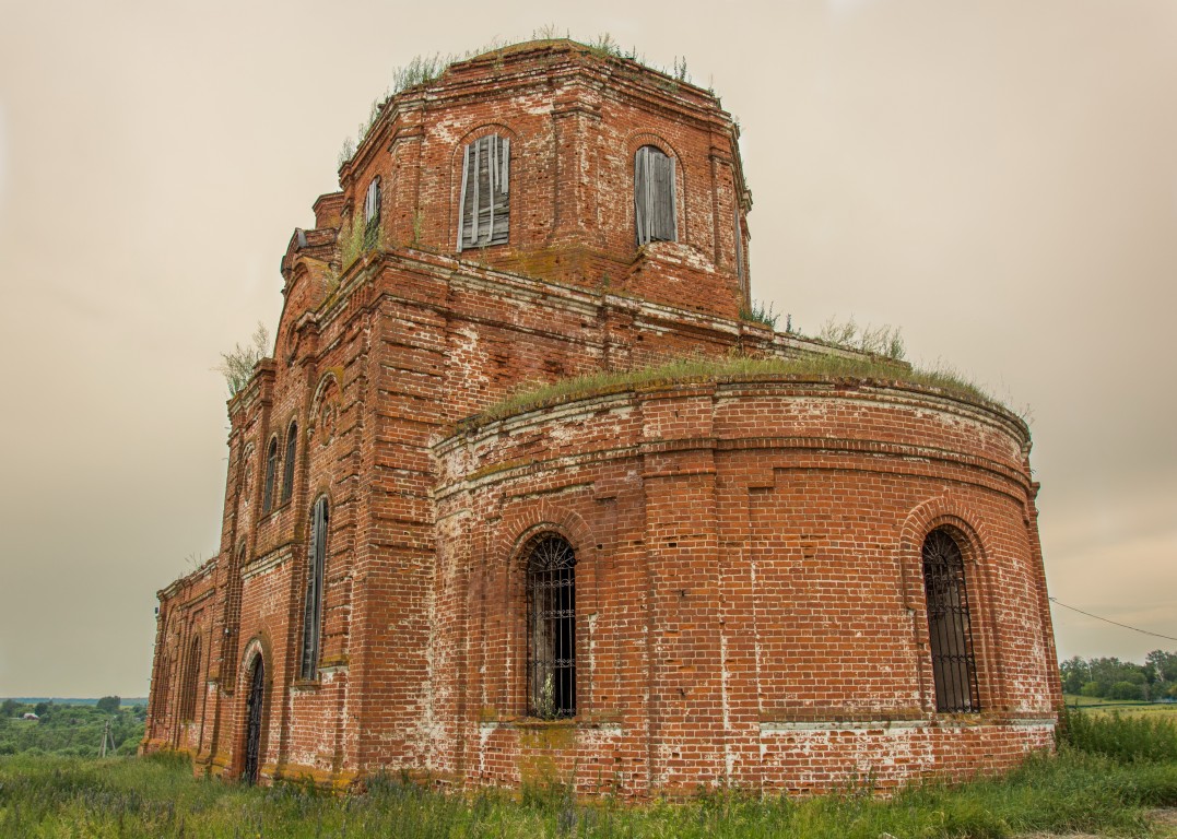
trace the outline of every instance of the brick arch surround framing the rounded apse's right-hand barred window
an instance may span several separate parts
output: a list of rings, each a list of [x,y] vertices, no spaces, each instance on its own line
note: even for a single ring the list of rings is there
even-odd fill
[[[992,580],[995,537],[984,519],[945,495],[929,499],[913,507],[899,530],[903,601],[912,615],[922,701],[925,711],[935,707],[931,660],[927,658],[927,598],[924,591],[923,548],[927,534],[940,527],[953,532],[964,558],[980,707],[993,710],[1003,704],[1005,695]]]

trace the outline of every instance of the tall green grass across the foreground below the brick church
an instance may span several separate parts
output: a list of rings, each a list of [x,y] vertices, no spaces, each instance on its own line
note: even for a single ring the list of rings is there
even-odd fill
[[[0,759],[0,835],[25,837],[676,837],[878,839],[1012,837],[1028,831],[1141,835],[1145,808],[1177,805],[1177,764],[1125,764],[1064,747],[1020,770],[960,786],[870,786],[810,799],[718,791],[670,804],[578,803],[559,786],[524,794],[441,794],[377,777],[365,794],[300,784],[250,788],[194,779],[184,763]]]

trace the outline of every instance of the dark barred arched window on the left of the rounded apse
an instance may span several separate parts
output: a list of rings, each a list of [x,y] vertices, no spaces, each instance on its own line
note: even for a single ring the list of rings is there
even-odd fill
[[[577,558],[554,533],[534,539],[527,555],[528,713],[577,713]]]

